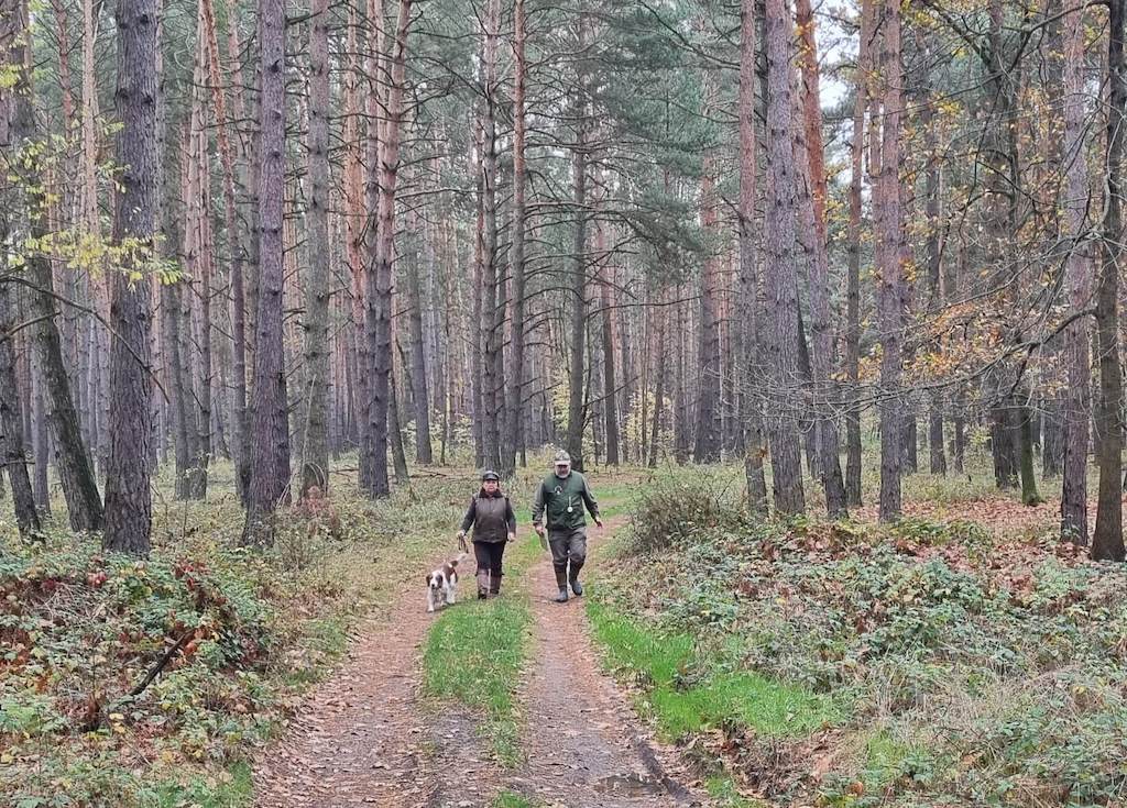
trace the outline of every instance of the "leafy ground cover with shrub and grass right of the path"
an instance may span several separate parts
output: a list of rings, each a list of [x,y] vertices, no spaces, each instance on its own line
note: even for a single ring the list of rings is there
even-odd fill
[[[757,522],[722,493],[651,485],[588,607],[607,664],[718,793],[731,776],[772,805],[1122,799],[1119,566],[1051,523]]]

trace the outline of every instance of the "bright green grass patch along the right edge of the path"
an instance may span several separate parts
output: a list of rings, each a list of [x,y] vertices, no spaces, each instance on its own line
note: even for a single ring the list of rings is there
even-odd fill
[[[659,634],[587,601],[611,667],[646,683],[644,699],[666,738],[736,724],[770,738],[798,738],[840,720],[837,707],[804,688],[751,671],[715,671],[687,635]]]

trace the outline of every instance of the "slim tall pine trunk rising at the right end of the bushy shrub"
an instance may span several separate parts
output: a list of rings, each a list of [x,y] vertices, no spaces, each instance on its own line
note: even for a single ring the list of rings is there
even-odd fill
[[[763,405],[757,389],[763,372],[761,357],[762,311],[758,293],[758,250],[755,241],[757,169],[755,142],[755,0],[740,0],[739,14],[739,303],[743,316],[736,324],[740,368],[739,411],[744,429],[744,477],[747,505],[755,513],[767,511],[763,458]]]

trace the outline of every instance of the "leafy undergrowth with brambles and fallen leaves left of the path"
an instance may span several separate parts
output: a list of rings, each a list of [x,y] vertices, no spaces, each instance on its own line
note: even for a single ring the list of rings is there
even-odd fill
[[[145,562],[62,528],[5,535],[0,803],[248,805],[246,756],[450,542],[472,485],[423,478],[370,503],[343,479],[330,511],[283,513],[265,551],[238,547],[231,495],[158,497]]]

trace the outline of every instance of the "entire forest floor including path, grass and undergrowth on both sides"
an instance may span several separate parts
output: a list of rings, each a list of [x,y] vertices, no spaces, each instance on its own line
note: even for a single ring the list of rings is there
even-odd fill
[[[871,509],[751,520],[734,466],[595,473],[607,530],[592,529],[588,591],[566,605],[548,600],[527,528],[539,473],[524,473],[503,596],[472,599],[470,560],[462,602],[436,614],[423,575],[453,551],[471,473],[425,469],[372,503],[341,468],[338,519],[294,508],[273,548],[247,551],[214,472],[208,502],[162,499],[160,483],[143,563],[57,521],[20,545],[0,512],[0,805],[1127,793],[1127,575],[1059,545],[1051,497],[1026,508],[983,469],[906,478],[895,528]]]

